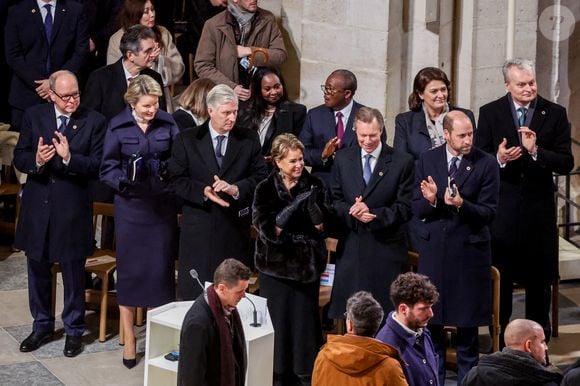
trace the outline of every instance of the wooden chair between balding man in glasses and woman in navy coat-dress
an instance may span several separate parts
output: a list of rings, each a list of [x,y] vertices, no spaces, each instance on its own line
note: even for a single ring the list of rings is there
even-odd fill
[[[113,217],[113,204],[107,204],[102,202],[93,203],[93,230],[95,237],[98,236],[97,223],[99,221],[99,216],[102,216],[104,220],[107,217]],[[106,221],[101,222],[100,235],[106,234],[107,225]],[[113,259],[111,259],[111,257]],[[91,256],[86,260],[85,270],[86,272],[94,273],[97,277],[101,279],[101,290],[88,289],[86,290],[89,297],[95,292],[98,294],[100,299],[100,319],[99,319],[99,342],[104,342],[106,340],[106,330],[107,330],[107,308],[109,306],[109,274],[117,267],[117,263],[114,259],[115,251],[110,249],[100,249],[96,248]],[[53,315],[56,311],[56,279],[58,272],[60,272],[59,264],[54,264],[52,266],[52,312]]]

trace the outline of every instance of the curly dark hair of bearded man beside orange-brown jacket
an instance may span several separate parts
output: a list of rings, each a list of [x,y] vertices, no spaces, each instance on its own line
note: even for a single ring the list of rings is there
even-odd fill
[[[400,274],[391,283],[390,295],[395,308],[400,304],[412,307],[417,302],[434,304],[439,300],[439,292],[429,278],[414,272]]]

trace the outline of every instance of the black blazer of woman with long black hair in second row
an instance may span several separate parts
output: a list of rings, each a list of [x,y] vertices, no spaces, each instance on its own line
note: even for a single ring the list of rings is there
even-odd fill
[[[253,117],[248,109],[247,103],[240,103],[240,112],[237,124],[254,131],[258,131],[258,122],[253,121]],[[292,101],[284,101],[278,106],[266,132],[266,138],[262,144],[262,154],[270,154],[272,141],[282,133],[292,133],[296,136],[300,134],[304,120],[306,119],[306,106]]]

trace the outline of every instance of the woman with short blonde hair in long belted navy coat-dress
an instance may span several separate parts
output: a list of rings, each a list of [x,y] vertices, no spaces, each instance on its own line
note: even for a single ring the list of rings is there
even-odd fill
[[[136,364],[135,307],[157,307],[175,298],[177,210],[164,173],[179,129],[159,110],[161,95],[147,75],[131,81],[125,93],[129,106],[109,122],[101,164],[101,180],[116,192],[117,300],[128,368]]]

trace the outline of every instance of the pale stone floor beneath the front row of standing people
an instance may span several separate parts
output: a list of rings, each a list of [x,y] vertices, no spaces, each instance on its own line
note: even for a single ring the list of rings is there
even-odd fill
[[[57,286],[57,313],[62,310],[62,284]],[[550,359],[564,365],[580,357],[580,281],[568,281],[560,288],[560,336],[550,342]],[[0,385],[142,385],[144,377],[145,328],[138,328],[137,367],[127,370],[121,363],[117,320],[108,322],[109,339],[99,343],[98,317],[89,311],[84,351],[76,358],[62,353],[64,336],[57,316],[57,333],[50,343],[33,353],[21,353],[20,342],[30,333],[26,259],[0,245]],[[514,297],[514,313],[522,315],[523,294]],[[486,329],[480,330],[485,335]],[[446,385],[455,383],[449,372]],[[165,386],[165,385],[163,385]]]

